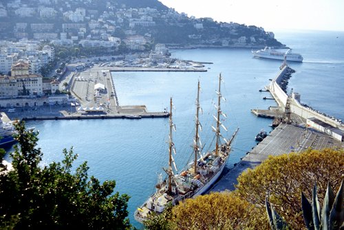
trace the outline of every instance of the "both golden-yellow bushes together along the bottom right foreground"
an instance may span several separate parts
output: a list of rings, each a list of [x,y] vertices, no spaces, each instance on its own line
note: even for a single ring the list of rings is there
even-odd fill
[[[147,229],[270,229],[266,218],[266,196],[286,220],[282,229],[305,229],[301,191],[312,196],[312,185],[319,186],[323,202],[327,181],[338,189],[344,170],[344,150],[306,150],[302,153],[269,157],[254,170],[239,176],[234,192],[214,193],[185,200],[152,216]]]

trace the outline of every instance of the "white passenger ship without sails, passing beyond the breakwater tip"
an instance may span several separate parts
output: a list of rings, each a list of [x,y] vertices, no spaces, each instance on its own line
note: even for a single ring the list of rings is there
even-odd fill
[[[272,47],[265,47],[257,51],[252,51],[255,58],[268,58],[276,60],[288,60],[293,62],[302,62],[303,57],[301,54],[293,53],[292,49],[288,49],[286,52],[273,49]]]

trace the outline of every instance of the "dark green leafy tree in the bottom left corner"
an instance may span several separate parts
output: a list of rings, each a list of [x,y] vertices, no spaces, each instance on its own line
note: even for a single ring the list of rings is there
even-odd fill
[[[115,181],[103,184],[88,177],[87,163],[77,168],[72,148],[61,163],[40,167],[43,152],[36,133],[15,126],[13,170],[0,167],[0,229],[129,229],[129,196],[114,192]],[[1,156],[2,160],[3,156]]]

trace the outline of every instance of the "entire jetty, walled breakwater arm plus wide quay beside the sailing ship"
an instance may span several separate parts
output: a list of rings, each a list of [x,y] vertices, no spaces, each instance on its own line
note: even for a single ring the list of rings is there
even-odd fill
[[[266,91],[270,92],[278,106],[251,110],[258,117],[279,118],[282,123],[257,146],[246,152],[246,156],[235,163],[208,192],[234,190],[237,177],[248,168],[255,168],[268,159],[268,156],[308,149],[344,148],[344,126],[340,120],[304,106],[298,93],[286,93],[286,85],[293,72],[288,65],[283,65],[276,78],[271,79],[266,86]]]

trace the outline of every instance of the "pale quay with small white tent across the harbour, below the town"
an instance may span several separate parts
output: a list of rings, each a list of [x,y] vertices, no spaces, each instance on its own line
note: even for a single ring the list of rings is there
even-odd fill
[[[61,117],[56,119],[108,119],[108,118],[129,118],[140,119],[146,117],[168,117],[169,113],[148,112],[144,105],[120,106],[119,95],[116,92],[114,80],[111,78],[111,71],[133,71],[134,69],[146,68],[117,68],[117,67],[92,67],[85,71],[69,74],[65,82],[69,85],[72,95],[78,99],[82,108],[103,108],[102,111],[83,111],[83,109],[74,109],[70,113],[61,111]],[[139,71],[139,70],[138,70]],[[98,90],[97,86],[103,85],[104,89]],[[33,119],[25,117],[25,119]],[[37,119],[37,118],[36,118]],[[50,119],[55,119],[51,117]]]

